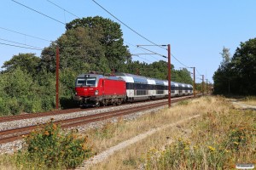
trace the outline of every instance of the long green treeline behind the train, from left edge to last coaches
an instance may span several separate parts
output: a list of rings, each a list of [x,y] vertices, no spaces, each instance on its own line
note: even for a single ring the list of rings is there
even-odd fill
[[[131,60],[128,46],[118,23],[100,16],[73,20],[67,31],[40,56],[17,54],[4,62],[0,73],[0,115],[34,113],[55,108],[56,48],[60,51],[60,105],[70,108],[76,77],[85,72],[113,71],[167,79],[167,63],[152,64]],[[186,69],[176,71],[172,65],[172,80],[192,83]]]

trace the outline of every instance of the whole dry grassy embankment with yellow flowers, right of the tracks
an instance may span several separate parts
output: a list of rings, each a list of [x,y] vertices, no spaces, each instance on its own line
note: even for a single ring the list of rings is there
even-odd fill
[[[151,112],[134,121],[119,119],[86,132],[93,143],[93,152],[100,153],[156,127],[201,115],[179,126],[163,128],[90,169],[137,169],[142,165],[147,169],[214,169],[234,167],[236,162],[253,162],[255,113],[235,110],[221,97],[203,97]],[[15,167],[15,161],[9,159],[1,156],[0,166]]]

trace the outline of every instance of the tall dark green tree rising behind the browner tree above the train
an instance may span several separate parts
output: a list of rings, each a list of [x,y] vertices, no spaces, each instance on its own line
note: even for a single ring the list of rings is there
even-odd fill
[[[76,19],[66,26],[67,31],[77,27],[84,27],[89,29],[90,32],[102,35],[102,37],[98,37],[98,40],[104,48],[104,56],[108,59],[108,67],[111,70],[119,70],[127,57],[131,56],[127,49],[128,47],[124,46],[123,33],[118,23],[96,16]]]

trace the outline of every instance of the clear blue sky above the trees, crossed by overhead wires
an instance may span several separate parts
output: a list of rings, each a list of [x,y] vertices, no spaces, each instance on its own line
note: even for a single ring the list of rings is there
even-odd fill
[[[125,45],[128,45],[131,54],[134,54],[133,60],[148,64],[160,59],[167,61],[160,55],[137,55],[150,53],[143,49],[147,48],[167,56],[166,48],[158,46],[137,48],[137,45],[152,45],[151,42],[159,45],[171,44],[171,62],[176,70],[195,67],[195,82],[201,82],[201,75],[204,75],[208,82],[213,82],[214,71],[217,71],[222,61],[220,53],[223,48],[230,48],[230,54],[233,56],[241,42],[256,36],[256,1],[254,0],[95,0],[95,2],[93,0],[1,0],[0,67],[3,62],[20,53],[40,56],[40,49],[48,47],[50,41],[55,41],[65,33],[65,23],[78,17],[98,15],[120,24]],[[193,71],[190,68],[188,70]]]

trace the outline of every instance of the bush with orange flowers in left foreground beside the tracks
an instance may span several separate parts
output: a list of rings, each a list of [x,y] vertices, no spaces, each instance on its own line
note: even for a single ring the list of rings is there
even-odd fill
[[[74,168],[92,156],[87,137],[73,131],[65,134],[53,122],[33,131],[25,141],[26,151],[20,152],[17,164],[27,168]]]

